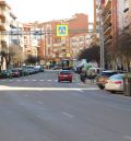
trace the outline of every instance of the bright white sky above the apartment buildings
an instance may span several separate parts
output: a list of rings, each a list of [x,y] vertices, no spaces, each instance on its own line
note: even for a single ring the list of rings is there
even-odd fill
[[[20,22],[48,22],[70,19],[75,13],[88,14],[93,22],[94,0],[5,0]]]

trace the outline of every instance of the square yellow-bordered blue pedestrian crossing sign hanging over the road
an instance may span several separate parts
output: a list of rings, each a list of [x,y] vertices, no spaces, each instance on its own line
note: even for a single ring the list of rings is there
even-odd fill
[[[66,24],[57,25],[57,36],[60,37],[68,36],[68,25]]]

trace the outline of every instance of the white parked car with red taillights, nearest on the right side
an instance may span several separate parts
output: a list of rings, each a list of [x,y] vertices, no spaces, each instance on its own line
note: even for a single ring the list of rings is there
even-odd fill
[[[123,92],[123,74],[114,74],[107,79],[105,90],[110,92]]]

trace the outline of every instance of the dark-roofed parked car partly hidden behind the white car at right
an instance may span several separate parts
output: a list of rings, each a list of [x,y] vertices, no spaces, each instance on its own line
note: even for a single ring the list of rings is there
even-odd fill
[[[99,89],[105,89],[105,83],[107,82],[107,79],[114,74],[117,74],[117,71],[114,70],[106,70],[102,71],[97,77],[96,77],[96,84],[98,85]]]

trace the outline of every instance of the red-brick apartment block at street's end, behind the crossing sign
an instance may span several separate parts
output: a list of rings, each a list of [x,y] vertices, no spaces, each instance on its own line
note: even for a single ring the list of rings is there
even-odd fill
[[[57,36],[57,25],[66,24],[69,27],[69,34],[66,37]],[[44,60],[60,61],[62,58],[74,58],[74,48],[72,46],[72,37],[84,38],[88,33],[88,17],[86,14],[79,13],[73,15],[71,19],[57,20],[50,22],[44,22],[37,26],[40,28],[41,36],[38,47],[38,56]],[[82,36],[83,35],[83,36]],[[78,40],[75,40],[78,44]],[[73,39],[74,44],[74,39]],[[82,39],[79,43],[76,50],[84,48],[85,43],[82,45]],[[75,54],[76,55],[76,54]]]

